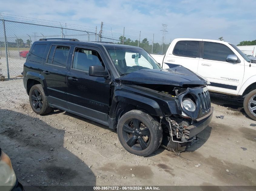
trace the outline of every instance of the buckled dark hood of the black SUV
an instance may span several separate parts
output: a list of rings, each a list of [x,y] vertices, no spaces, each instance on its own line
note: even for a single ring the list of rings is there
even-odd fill
[[[200,75],[181,65],[174,65],[168,69],[138,70],[115,79],[118,82],[120,80],[124,84],[165,84],[174,86],[182,86],[184,84],[210,84]]]

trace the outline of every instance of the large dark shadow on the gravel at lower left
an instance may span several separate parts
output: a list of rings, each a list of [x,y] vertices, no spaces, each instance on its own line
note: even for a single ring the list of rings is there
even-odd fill
[[[94,173],[73,154],[79,151],[65,148],[64,129],[11,110],[0,109],[0,116],[0,146],[10,156],[16,176],[26,190],[79,190],[79,186],[95,186]]]

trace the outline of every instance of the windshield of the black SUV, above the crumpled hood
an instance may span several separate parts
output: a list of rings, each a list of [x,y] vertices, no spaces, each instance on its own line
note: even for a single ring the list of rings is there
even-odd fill
[[[142,49],[107,48],[119,73],[125,75],[142,69],[160,69],[158,63]]]

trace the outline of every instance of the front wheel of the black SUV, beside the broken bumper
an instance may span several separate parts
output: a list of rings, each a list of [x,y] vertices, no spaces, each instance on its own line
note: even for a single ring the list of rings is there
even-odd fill
[[[119,119],[117,134],[128,152],[144,157],[155,152],[163,138],[158,121],[140,110],[131,110]]]

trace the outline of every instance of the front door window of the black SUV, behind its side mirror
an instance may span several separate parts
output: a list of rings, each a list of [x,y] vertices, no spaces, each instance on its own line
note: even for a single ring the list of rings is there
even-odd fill
[[[89,72],[90,66],[102,65],[102,60],[95,50],[75,48],[72,68]]]

